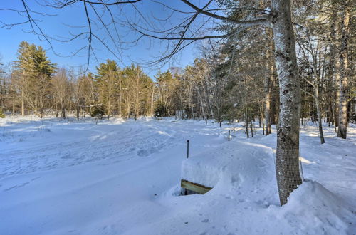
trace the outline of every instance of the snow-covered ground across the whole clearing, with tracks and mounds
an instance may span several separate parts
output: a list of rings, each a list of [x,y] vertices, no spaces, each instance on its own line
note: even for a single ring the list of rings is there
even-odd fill
[[[231,142],[227,130],[171,118],[0,119],[0,234],[356,234],[354,127],[347,140],[325,127],[324,145],[315,125],[301,127],[307,180],[283,207],[275,129],[246,140],[237,125]],[[182,176],[214,188],[179,196]]]

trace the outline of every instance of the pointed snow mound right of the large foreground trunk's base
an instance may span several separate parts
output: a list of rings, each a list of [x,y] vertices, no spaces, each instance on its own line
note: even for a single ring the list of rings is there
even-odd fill
[[[295,233],[352,234],[350,229],[356,225],[356,211],[323,185],[308,179],[290,194],[288,203],[275,212],[277,219],[288,224]]]

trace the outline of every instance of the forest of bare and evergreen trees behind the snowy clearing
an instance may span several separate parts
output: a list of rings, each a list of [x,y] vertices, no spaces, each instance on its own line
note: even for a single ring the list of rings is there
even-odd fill
[[[355,114],[355,17],[351,2],[295,5],[296,58],[300,75],[300,120],[335,126],[346,137]],[[231,12],[241,14],[241,12]],[[239,16],[241,17],[241,16]],[[222,25],[221,31],[228,31]],[[258,120],[266,135],[278,123],[279,81],[272,31],[261,26],[239,37],[201,46],[186,68],[146,75],[139,64],[120,68],[108,59],[96,71],[56,66],[41,46],[21,42],[17,60],[1,66],[2,112],[93,117],[167,117]],[[252,63],[251,63],[252,62]],[[340,125],[340,124],[341,125]],[[340,127],[339,127],[340,126]]]

